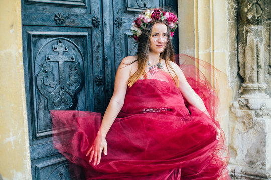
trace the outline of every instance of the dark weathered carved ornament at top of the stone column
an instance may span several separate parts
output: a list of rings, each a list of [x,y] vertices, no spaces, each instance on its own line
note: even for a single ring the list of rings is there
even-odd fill
[[[263,0],[239,0],[240,17],[243,22],[256,25],[262,22],[263,18]]]

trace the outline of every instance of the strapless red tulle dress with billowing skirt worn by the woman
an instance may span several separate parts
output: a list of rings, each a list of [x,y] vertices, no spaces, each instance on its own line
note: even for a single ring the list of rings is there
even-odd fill
[[[186,77],[212,114],[215,92],[205,81]],[[189,106],[172,77],[159,69],[127,88],[124,105],[111,126],[107,155],[99,165],[86,153],[96,138],[101,114],[51,111],[53,143],[85,179],[230,179],[224,133],[210,117]]]

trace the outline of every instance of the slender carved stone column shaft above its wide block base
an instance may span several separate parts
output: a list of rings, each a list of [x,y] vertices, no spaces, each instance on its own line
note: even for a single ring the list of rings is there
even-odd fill
[[[243,98],[268,98],[264,90],[263,0],[239,0],[239,66]]]

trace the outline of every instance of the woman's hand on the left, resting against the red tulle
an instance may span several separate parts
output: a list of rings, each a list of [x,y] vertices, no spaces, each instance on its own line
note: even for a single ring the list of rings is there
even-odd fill
[[[107,142],[105,137],[101,136],[101,132],[99,130],[96,139],[94,140],[93,144],[89,148],[86,156],[89,156],[89,163],[93,160],[93,165],[99,165],[101,161],[101,153],[103,150],[103,154],[107,155]]]

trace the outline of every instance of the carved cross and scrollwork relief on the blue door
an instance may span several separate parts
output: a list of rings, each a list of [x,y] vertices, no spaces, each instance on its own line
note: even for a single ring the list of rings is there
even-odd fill
[[[71,110],[77,106],[77,94],[84,85],[84,74],[76,55],[64,55],[68,52],[68,45],[62,39],[53,45],[53,51],[58,55],[46,55],[45,64],[37,75],[37,87],[47,99],[49,110]],[[58,63],[59,76],[53,74],[53,62]],[[65,64],[69,63],[68,77],[65,75]],[[56,69],[55,69],[56,70]],[[58,82],[55,79],[59,79]]]

